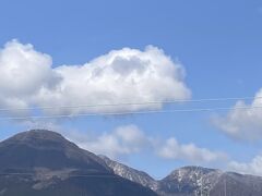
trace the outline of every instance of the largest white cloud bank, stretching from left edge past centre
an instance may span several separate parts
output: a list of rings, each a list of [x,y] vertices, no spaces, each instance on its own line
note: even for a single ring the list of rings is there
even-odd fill
[[[184,70],[162,49],[123,48],[85,64],[52,65],[51,57],[17,40],[0,49],[0,106],[7,108],[116,105],[189,99]],[[160,109],[158,105],[44,110],[56,114]]]

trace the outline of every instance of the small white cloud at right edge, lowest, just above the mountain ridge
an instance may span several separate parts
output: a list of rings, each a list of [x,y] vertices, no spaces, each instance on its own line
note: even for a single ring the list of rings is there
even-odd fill
[[[262,175],[262,156],[254,157],[250,162],[231,161],[228,168],[239,173]]]

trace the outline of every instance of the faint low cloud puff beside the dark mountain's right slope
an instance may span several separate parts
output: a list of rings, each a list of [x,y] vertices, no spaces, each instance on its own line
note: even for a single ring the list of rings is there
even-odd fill
[[[81,148],[110,158],[136,154],[150,146],[148,138],[135,125],[120,126],[110,133],[105,132],[102,135],[75,131],[66,132],[64,134]]]

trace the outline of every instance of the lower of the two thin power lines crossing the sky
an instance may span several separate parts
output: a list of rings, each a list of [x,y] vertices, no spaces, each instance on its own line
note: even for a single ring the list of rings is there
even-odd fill
[[[148,113],[176,113],[176,112],[209,112],[218,110],[245,110],[245,109],[262,109],[261,106],[250,107],[221,107],[221,108],[195,108],[195,109],[176,109],[176,110],[146,110],[146,111],[126,111],[126,112],[104,112],[104,113],[79,113],[79,114],[61,114],[61,115],[27,115],[27,117],[2,117],[0,120],[27,120],[27,119],[63,119],[78,117],[96,117],[96,115],[128,115],[128,114],[148,114]]]

